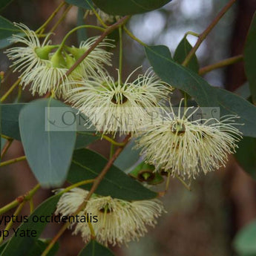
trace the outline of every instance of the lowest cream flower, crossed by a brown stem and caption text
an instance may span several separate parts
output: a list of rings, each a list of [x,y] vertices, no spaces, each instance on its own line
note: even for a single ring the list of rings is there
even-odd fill
[[[84,202],[88,191],[74,188],[62,195],[57,204],[56,214],[73,214]],[[112,197],[93,194],[85,210],[78,215],[97,216],[98,222],[91,222],[99,243],[112,245],[137,240],[147,232],[146,226],[155,226],[156,219],[163,213],[163,205],[159,200],[142,200],[128,202]],[[81,233],[85,242],[91,239],[88,223],[71,223],[75,226],[73,234]]]

